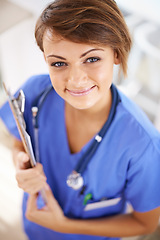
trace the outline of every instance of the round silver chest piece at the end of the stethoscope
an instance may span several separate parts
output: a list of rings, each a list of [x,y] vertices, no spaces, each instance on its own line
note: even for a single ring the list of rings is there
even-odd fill
[[[78,190],[83,186],[83,177],[80,173],[73,171],[67,178],[67,185],[74,190]]]

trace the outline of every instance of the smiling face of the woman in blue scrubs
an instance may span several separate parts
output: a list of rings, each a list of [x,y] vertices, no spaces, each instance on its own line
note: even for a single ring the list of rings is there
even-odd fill
[[[46,32],[44,57],[55,91],[72,107],[107,105],[113,65],[119,64],[110,47],[74,43]]]

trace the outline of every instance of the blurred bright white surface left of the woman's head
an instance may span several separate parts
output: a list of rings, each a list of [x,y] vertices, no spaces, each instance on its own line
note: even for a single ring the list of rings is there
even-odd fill
[[[31,75],[48,72],[35,42],[35,22],[36,18],[31,17],[0,35],[1,77],[11,91]]]

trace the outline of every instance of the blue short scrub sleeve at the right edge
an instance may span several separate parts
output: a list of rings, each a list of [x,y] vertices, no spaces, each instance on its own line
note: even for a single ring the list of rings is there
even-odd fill
[[[127,173],[125,197],[138,212],[160,206],[160,140],[150,142]]]

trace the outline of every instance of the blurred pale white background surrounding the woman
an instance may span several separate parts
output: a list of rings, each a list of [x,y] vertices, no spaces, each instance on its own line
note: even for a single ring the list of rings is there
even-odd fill
[[[31,75],[48,72],[35,43],[34,26],[37,16],[49,2],[0,0],[0,79],[13,92]],[[125,15],[134,45],[128,78],[118,78],[115,68],[114,82],[160,129],[160,1],[117,0],[117,3]],[[150,28],[147,24],[151,24]],[[147,37],[146,28],[151,29]],[[5,99],[0,87],[0,105]],[[22,192],[14,177],[11,146],[12,138],[0,122],[0,240],[26,240],[21,222]],[[141,239],[158,240],[160,230]]]

